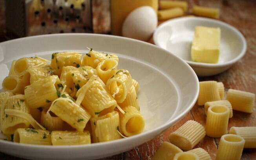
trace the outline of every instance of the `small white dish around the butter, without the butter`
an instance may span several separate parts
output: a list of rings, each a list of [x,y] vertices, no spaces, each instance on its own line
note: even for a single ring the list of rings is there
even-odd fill
[[[193,62],[190,49],[197,25],[219,27],[221,43],[219,62],[207,64]],[[229,24],[210,18],[182,17],[168,20],[159,25],[154,32],[154,43],[185,60],[198,76],[217,75],[231,67],[245,55],[247,44],[244,36]]]

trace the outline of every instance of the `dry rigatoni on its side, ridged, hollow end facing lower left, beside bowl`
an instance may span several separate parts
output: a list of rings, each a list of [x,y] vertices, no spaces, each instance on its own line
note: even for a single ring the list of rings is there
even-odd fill
[[[183,151],[191,150],[205,137],[205,128],[194,120],[188,120],[175,132],[171,133],[169,140]]]

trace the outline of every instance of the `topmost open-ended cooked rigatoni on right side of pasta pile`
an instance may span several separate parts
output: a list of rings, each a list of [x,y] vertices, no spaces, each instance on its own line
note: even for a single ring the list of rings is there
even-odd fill
[[[97,65],[96,69],[98,76],[105,84],[108,79],[117,71],[117,65],[117,61],[112,58],[106,59]]]

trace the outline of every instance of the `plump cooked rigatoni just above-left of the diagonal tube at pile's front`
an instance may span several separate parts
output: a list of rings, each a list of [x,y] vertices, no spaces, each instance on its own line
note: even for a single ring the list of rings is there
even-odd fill
[[[25,88],[27,104],[31,108],[46,107],[60,96],[60,91],[56,88],[60,84],[58,76],[49,76],[37,80],[35,83]]]

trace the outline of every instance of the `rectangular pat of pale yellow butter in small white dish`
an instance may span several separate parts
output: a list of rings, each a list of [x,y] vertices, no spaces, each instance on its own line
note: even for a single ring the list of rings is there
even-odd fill
[[[191,58],[195,62],[217,63],[219,60],[220,29],[195,27]]]

